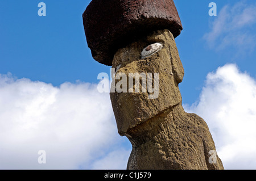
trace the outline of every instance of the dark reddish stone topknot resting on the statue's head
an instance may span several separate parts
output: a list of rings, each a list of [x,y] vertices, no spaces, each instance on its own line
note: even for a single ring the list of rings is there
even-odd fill
[[[93,58],[109,66],[135,39],[163,29],[176,37],[183,29],[173,0],[93,0],[82,18]]]

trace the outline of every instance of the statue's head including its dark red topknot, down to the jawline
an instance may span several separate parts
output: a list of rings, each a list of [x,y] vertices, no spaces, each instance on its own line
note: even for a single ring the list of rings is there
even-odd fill
[[[181,103],[184,70],[174,38],[183,27],[174,0],[92,0],[82,18],[94,60],[117,71],[110,98],[119,134]],[[129,73],[141,83],[130,86]]]

